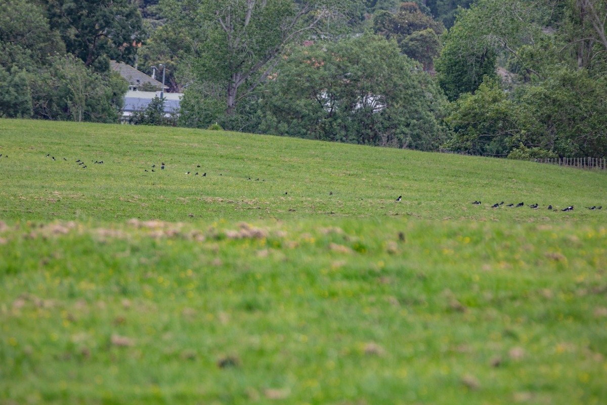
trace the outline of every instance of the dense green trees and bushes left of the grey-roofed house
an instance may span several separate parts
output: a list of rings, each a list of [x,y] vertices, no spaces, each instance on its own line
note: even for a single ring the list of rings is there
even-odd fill
[[[8,0],[0,4],[0,116],[115,123],[141,16],[127,2]]]

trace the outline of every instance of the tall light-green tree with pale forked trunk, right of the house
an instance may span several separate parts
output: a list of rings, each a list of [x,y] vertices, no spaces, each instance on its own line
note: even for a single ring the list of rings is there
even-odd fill
[[[236,112],[272,72],[287,44],[324,29],[346,0],[163,0],[168,24],[197,32],[192,70],[198,81],[225,89],[226,114]],[[187,14],[189,17],[180,18]],[[184,24],[188,22],[189,24]],[[193,24],[192,24],[193,23]]]

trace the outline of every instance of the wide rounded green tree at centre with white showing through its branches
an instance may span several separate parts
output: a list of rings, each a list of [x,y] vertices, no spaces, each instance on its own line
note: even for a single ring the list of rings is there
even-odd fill
[[[262,132],[421,150],[443,143],[442,95],[395,41],[364,35],[283,58],[263,94]]]

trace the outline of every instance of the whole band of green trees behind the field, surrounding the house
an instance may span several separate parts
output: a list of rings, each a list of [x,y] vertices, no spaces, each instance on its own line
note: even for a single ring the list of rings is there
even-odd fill
[[[607,154],[607,0],[6,0],[0,114],[115,122],[109,59],[172,124],[510,158]],[[151,106],[138,123],[166,124]]]

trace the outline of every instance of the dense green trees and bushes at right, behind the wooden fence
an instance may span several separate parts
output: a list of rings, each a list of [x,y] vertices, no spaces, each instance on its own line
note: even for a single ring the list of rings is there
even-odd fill
[[[603,0],[484,0],[462,12],[436,63],[439,84],[457,100],[449,148],[605,157],[605,16]]]

